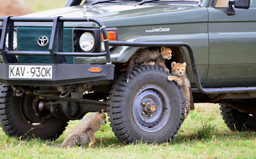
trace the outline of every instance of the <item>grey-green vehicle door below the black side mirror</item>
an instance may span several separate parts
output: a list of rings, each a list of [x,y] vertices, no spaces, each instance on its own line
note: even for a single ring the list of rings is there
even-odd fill
[[[209,87],[252,86],[256,82],[256,0],[227,15],[229,0],[208,7]],[[235,82],[235,84],[234,84]]]

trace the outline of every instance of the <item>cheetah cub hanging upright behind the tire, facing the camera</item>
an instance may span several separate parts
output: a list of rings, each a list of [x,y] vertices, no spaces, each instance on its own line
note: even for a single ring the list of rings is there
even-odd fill
[[[191,86],[190,86],[188,76],[186,74],[186,63],[172,62],[171,73],[173,76],[168,76],[168,80],[175,81],[181,87],[183,98],[184,98],[184,105],[185,105],[184,118],[187,118],[190,111],[190,106],[191,106],[190,93],[189,93],[189,88]]]

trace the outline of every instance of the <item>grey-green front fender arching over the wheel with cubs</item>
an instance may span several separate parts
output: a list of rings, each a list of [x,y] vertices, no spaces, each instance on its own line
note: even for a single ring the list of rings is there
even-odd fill
[[[196,39],[196,40],[195,40]],[[196,51],[195,59],[198,66],[198,74],[202,83],[206,82],[207,70],[208,70],[208,34],[207,33],[184,33],[184,34],[156,34],[156,35],[134,35],[123,36],[118,38],[118,41],[122,42],[183,42],[189,44],[193,50]],[[118,46],[110,50],[111,62],[128,62],[132,55],[139,49],[148,46]],[[183,47],[185,58],[189,57],[189,52]],[[200,60],[199,60],[200,59]],[[186,58],[188,64],[189,80],[192,84],[195,83],[192,67],[189,62],[189,58]],[[103,64],[106,63],[104,56],[100,57],[75,57],[76,64]]]

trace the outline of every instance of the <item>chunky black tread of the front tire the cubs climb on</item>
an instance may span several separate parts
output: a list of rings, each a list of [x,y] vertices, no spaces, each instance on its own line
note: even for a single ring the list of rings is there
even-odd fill
[[[148,71],[154,71],[161,74],[166,74],[166,78],[168,75],[170,75],[169,72],[165,71],[164,69],[152,66],[152,65],[139,65],[133,67],[130,77],[129,77],[129,83],[133,82],[136,77],[140,76],[141,74],[147,73]],[[108,119],[111,123],[110,126],[112,127],[112,131],[114,132],[115,136],[118,138],[118,140],[124,142],[124,143],[132,143],[136,142],[136,137],[133,136],[133,134],[129,131],[127,131],[127,123],[124,122],[124,108],[121,105],[122,99],[125,98],[126,90],[128,89],[129,84],[126,81],[125,74],[120,75],[117,80],[114,82],[114,85],[112,86],[110,90],[110,95],[108,97],[107,102],[107,112],[108,116],[110,118]],[[181,102],[181,115],[180,119],[176,123],[176,128],[172,132],[172,137],[166,139],[162,142],[168,142],[175,138],[175,136],[178,134],[178,130],[181,128],[181,124],[183,123],[183,114],[184,114],[184,99],[182,95],[181,88],[176,84],[175,87],[178,89],[179,97]],[[117,99],[118,98],[118,99]]]

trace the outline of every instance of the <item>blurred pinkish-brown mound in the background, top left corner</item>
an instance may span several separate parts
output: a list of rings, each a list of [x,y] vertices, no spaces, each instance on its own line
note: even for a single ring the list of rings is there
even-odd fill
[[[0,17],[17,17],[31,13],[27,4],[23,0],[0,0],[0,5]]]

